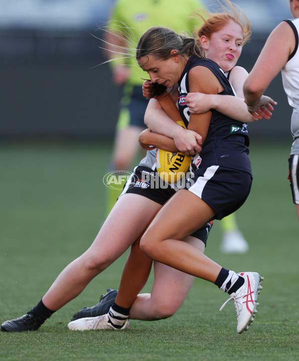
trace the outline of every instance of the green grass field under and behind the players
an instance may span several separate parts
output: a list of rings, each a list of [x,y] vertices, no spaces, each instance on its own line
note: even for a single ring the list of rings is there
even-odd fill
[[[132,321],[124,332],[69,331],[75,311],[118,288],[125,254],[38,331],[1,332],[0,360],[299,360],[299,224],[286,179],[289,150],[286,143],[251,145],[253,188],[237,213],[249,252],[221,254],[217,222],[208,240],[206,254],[224,267],[265,277],[248,332],[237,334],[233,304],[219,313],[227,295],[200,279],[170,319]],[[1,322],[30,310],[95,238],[110,151],[109,144],[0,145]]]

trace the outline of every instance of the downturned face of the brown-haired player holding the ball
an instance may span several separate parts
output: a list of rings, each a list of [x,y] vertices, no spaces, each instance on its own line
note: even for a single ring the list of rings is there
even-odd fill
[[[152,83],[167,88],[173,87],[178,82],[183,69],[180,63],[179,56],[161,60],[153,55],[145,55],[138,60],[138,65],[149,74]]]

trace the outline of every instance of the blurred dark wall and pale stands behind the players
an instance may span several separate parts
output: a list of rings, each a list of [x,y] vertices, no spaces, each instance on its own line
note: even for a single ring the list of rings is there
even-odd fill
[[[135,1],[135,0],[132,0]],[[207,7],[215,0],[203,0]],[[239,65],[251,70],[271,30],[290,18],[286,0],[235,0],[253,25]],[[113,0],[0,0],[1,140],[113,140],[119,89],[99,46]],[[251,138],[290,140],[281,75],[267,95],[272,120],[249,125]]]

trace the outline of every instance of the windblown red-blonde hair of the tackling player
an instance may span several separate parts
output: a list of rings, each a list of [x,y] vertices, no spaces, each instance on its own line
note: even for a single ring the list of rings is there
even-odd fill
[[[219,31],[223,26],[225,26],[230,20],[235,21],[242,28],[243,32],[243,42],[242,46],[249,40],[251,36],[252,26],[240,6],[229,0],[223,0],[219,2],[219,11],[209,12],[203,10],[203,15],[197,13],[196,16],[199,16],[203,21],[203,25],[196,30],[197,36],[196,40],[200,43],[199,39],[201,36],[205,35],[208,39],[211,38],[214,32]]]

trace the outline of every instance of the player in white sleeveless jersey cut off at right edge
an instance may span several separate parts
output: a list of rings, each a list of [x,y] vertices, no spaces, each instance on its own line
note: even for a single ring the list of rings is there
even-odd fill
[[[290,10],[294,19],[281,22],[269,35],[244,84],[244,96],[249,112],[253,113],[271,81],[279,71],[282,72],[285,92],[293,108],[291,130],[294,141],[288,178],[299,220],[299,0],[290,0]]]

